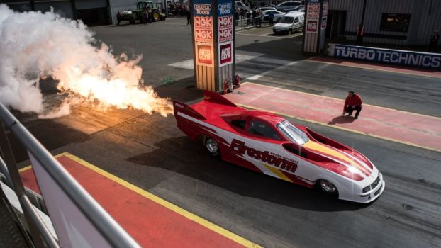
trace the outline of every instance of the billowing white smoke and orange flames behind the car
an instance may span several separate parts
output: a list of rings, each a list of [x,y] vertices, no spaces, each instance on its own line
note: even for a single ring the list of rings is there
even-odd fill
[[[141,57],[115,57],[107,45],[94,46],[94,33],[81,22],[56,13],[13,12],[0,4],[0,102],[40,118],[69,114],[72,103],[49,114],[39,89],[40,77],[50,76],[62,92],[100,106],[138,108],[147,113],[171,113],[166,99],[142,86]]]

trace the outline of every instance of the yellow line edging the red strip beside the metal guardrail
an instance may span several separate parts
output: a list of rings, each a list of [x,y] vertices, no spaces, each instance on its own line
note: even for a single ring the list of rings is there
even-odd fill
[[[100,169],[99,167],[96,167],[93,164],[90,164],[89,162],[86,162],[85,160],[74,156],[73,154],[70,154],[69,152],[63,152],[62,154],[58,154],[56,157],[60,157],[60,156],[69,157],[69,159],[72,159],[75,162],[82,164],[84,167],[87,167],[92,171],[95,171],[96,173],[101,174],[102,176],[111,179],[112,181],[115,181],[116,183],[121,184],[122,186],[129,188],[130,190],[136,193],[139,193],[141,196],[144,196],[145,198],[148,198],[151,201],[154,201],[155,203],[158,203],[164,206],[165,208],[168,208],[169,210],[178,213],[179,215],[182,215],[186,218],[189,218],[190,220],[193,220],[199,225],[203,225],[204,227],[208,228],[209,230],[212,230],[213,232],[217,232],[218,234],[223,235],[224,237],[227,237],[228,239],[231,239],[234,242],[237,242],[238,244],[242,244],[244,247],[253,247],[253,248],[261,247],[258,244],[255,244],[243,237],[240,237],[239,235],[234,234],[233,232],[225,230],[223,227],[220,227],[212,222],[209,222],[208,220],[205,220],[197,215],[194,215],[193,213],[190,213],[189,211],[184,210],[183,208],[179,208],[177,205],[174,205],[173,203],[169,203],[168,201],[165,201],[162,198],[159,198],[153,195],[152,193],[149,193],[143,190],[142,188],[139,188],[138,186],[130,184],[128,181],[124,181],[123,179],[120,179],[117,176],[114,176],[113,174],[110,174],[107,171],[104,171],[103,169]]]

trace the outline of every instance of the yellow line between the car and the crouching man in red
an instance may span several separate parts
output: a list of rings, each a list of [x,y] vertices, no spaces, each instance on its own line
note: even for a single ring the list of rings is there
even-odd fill
[[[342,127],[337,126],[337,125],[329,125],[329,124],[326,124],[326,123],[320,123],[320,122],[318,122],[316,120],[308,120],[308,119],[300,118],[300,117],[297,117],[297,116],[294,116],[294,115],[288,115],[286,113],[280,113],[280,112],[277,112],[277,111],[270,111],[270,110],[267,110],[267,109],[264,109],[264,108],[256,108],[256,107],[248,106],[248,105],[241,104],[241,103],[235,103],[235,105],[241,106],[241,107],[244,107],[244,108],[252,108],[252,109],[259,110],[259,111],[267,111],[269,113],[275,113],[277,115],[282,115],[282,116],[286,116],[286,117],[289,117],[289,118],[294,118],[294,119],[297,119],[297,120],[304,120],[304,121],[307,121],[308,123],[315,123],[315,124],[318,124],[318,125],[324,125],[324,126],[327,126],[327,127],[330,127],[330,128],[337,128],[337,129],[340,129],[340,130],[345,130],[347,132],[358,133],[360,135],[367,135],[367,136],[371,136],[371,137],[376,137],[376,138],[379,138],[381,140],[389,140],[389,141],[401,143],[401,144],[404,144],[404,145],[411,145],[413,147],[423,148],[423,149],[431,150],[431,151],[435,151],[435,152],[441,152],[441,150],[438,150],[436,148],[425,147],[423,145],[417,145],[417,144],[414,144],[414,143],[411,143],[411,142],[402,141],[402,140],[395,140],[395,139],[392,139],[390,137],[383,137],[383,136],[379,136],[379,135],[374,135],[372,133],[363,133],[363,132],[360,132],[360,131],[357,131],[357,130],[353,130],[353,129],[350,129],[350,128],[342,128]]]

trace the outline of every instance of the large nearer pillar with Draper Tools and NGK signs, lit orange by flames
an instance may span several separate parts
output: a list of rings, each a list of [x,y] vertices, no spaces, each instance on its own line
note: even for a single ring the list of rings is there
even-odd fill
[[[235,73],[233,1],[193,0],[191,8],[196,88],[221,91]]]

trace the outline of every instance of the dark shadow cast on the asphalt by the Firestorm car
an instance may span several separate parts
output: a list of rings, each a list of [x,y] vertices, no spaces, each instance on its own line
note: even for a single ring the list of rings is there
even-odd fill
[[[216,185],[240,196],[259,198],[291,208],[333,212],[357,210],[366,206],[338,201],[333,196],[327,196],[316,189],[290,184],[235,164],[223,162],[216,157],[211,157],[199,142],[193,142],[189,137],[162,140],[155,143],[155,147],[158,149],[130,157],[128,161],[147,167],[160,167],[167,171],[174,171]],[[150,183],[156,185],[160,184],[162,180],[164,179],[156,178]],[[189,186],[182,186],[182,190],[189,190]],[[212,193],[211,191],[206,192],[207,196]],[[201,192],[199,191],[198,194]]]

